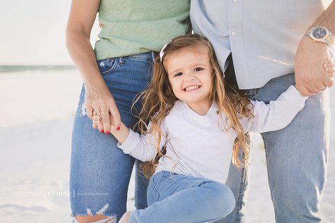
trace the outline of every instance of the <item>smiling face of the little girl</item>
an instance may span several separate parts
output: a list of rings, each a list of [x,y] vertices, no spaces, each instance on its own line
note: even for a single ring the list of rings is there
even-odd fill
[[[179,100],[200,115],[205,115],[211,107],[212,67],[207,48],[182,48],[166,55],[166,70],[172,91]]]

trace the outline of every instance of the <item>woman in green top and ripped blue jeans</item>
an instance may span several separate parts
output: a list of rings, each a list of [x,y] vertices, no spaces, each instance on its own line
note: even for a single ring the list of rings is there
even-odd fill
[[[70,165],[74,222],[117,222],[126,212],[135,160],[117,148],[117,140],[109,134],[109,114],[116,129],[121,125],[120,114],[128,127],[136,123],[133,98],[149,83],[155,52],[189,30],[189,5],[189,0],[72,1],[66,46],[84,80]],[[89,36],[98,12],[101,40],[92,49]],[[94,111],[102,118],[101,133],[91,127]],[[138,195],[145,198],[145,193]],[[135,205],[147,204],[136,200]]]

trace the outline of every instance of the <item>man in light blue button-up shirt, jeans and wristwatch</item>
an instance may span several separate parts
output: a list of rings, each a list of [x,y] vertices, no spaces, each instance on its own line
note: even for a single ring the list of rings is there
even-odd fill
[[[223,70],[234,64],[239,88],[253,100],[276,100],[295,82],[310,96],[287,128],[262,134],[276,222],[322,219],[330,125],[326,90],[334,85],[334,73],[322,64],[334,59],[335,2],[325,5],[319,0],[191,1],[195,33],[211,41]],[[248,172],[248,164],[231,165],[226,185],[237,205],[221,222],[244,222]]]

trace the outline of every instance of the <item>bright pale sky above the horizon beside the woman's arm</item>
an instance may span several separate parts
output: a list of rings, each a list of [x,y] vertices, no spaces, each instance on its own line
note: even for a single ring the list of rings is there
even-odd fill
[[[70,0],[10,0],[0,7],[1,65],[71,65],[65,46]],[[92,31],[92,43],[98,38]],[[93,38],[93,36],[95,36]]]

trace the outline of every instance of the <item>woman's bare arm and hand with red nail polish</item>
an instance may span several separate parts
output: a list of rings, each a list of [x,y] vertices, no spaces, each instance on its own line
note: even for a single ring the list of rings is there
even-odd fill
[[[72,1],[66,27],[66,47],[84,80],[87,116],[92,118],[93,111],[101,116],[101,110],[105,109],[112,114],[113,123],[118,128],[121,125],[119,110],[99,72],[89,40],[99,4],[100,0]],[[110,132],[109,115],[102,116],[98,129]]]

